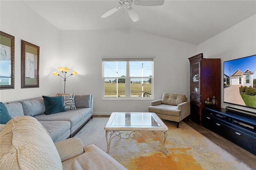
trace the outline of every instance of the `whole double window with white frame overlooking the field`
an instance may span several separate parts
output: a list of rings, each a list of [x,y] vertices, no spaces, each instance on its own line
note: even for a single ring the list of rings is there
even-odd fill
[[[153,99],[153,58],[102,58],[103,99]]]

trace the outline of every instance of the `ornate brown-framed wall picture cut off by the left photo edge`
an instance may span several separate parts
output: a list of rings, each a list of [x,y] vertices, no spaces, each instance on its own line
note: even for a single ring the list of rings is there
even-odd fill
[[[0,89],[14,89],[14,36],[0,31]]]

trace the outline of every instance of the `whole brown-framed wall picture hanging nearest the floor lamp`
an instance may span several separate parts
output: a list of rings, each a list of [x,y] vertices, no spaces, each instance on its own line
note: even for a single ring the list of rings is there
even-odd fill
[[[21,40],[21,88],[39,87],[39,48]]]

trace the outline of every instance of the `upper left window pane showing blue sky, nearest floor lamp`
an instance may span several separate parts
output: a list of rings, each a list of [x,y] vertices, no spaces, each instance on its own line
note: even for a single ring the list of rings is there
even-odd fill
[[[105,61],[104,77],[126,76],[126,61]]]

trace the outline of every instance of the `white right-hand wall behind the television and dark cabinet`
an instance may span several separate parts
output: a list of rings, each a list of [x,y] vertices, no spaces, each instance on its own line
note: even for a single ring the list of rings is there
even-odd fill
[[[210,38],[197,46],[197,53],[204,53],[206,58],[221,58],[221,85],[223,85],[223,62],[256,54],[256,15],[236,24],[224,32]],[[223,102],[221,88],[221,107],[235,107],[255,112],[255,109],[238,107]]]

